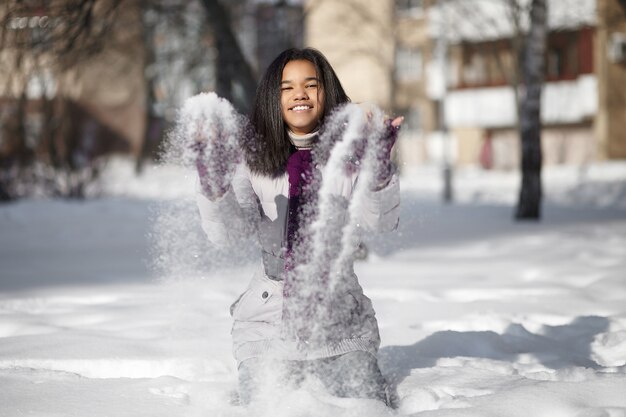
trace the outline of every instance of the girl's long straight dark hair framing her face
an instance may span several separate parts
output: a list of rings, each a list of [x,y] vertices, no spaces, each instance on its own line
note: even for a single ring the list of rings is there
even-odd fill
[[[252,105],[250,121],[255,134],[244,143],[244,151],[254,173],[277,177],[285,172],[293,146],[280,108],[280,82],[285,65],[298,60],[309,61],[315,66],[325,96],[322,122],[336,106],[350,101],[337,74],[320,51],[292,48],[282,52],[265,71]]]

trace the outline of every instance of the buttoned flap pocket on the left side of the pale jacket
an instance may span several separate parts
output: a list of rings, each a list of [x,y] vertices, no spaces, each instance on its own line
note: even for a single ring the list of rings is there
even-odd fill
[[[282,281],[257,274],[246,291],[231,306],[236,321],[276,322],[282,316]]]

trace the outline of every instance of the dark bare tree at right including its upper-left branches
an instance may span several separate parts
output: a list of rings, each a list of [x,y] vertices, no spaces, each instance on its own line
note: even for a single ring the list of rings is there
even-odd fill
[[[447,2],[453,5],[449,9],[459,19],[493,39],[479,45],[493,57],[500,74],[512,88],[518,116],[515,127],[521,144],[522,181],[515,218],[537,220],[541,217],[542,200],[540,105],[549,32],[547,0],[532,0],[528,4],[520,0],[501,0],[507,18],[505,25],[484,10],[473,9],[469,2]],[[499,44],[511,51],[508,65],[503,62]]]

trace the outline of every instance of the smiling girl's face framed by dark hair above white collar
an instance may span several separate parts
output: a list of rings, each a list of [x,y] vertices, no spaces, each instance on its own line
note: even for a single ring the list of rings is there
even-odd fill
[[[297,134],[310,133],[324,114],[324,90],[313,63],[289,61],[280,83],[283,120]]]

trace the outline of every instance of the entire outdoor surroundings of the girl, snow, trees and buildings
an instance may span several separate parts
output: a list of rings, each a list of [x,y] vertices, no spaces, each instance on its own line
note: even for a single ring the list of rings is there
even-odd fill
[[[304,46],[405,117],[355,265],[395,414],[626,416],[626,0],[0,0],[0,416],[245,414],[259,251],[161,149]],[[255,412],[390,415],[300,394]]]

